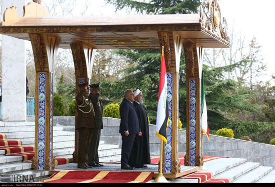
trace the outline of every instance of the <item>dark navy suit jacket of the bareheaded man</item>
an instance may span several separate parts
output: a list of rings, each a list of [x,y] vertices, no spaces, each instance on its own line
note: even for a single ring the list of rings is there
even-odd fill
[[[129,134],[137,134],[139,132],[139,122],[133,104],[124,98],[119,106],[119,113],[119,133],[123,134],[125,131],[129,131]]]

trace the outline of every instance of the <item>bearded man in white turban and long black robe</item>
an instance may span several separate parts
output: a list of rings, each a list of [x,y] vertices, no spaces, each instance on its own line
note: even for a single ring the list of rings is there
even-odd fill
[[[149,125],[143,103],[143,95],[139,89],[134,92],[133,106],[136,109],[139,132],[135,137],[128,164],[134,168],[146,168],[150,164]]]

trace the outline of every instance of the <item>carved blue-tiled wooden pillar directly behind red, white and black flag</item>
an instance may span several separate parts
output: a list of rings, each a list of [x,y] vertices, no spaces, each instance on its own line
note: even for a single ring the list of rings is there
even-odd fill
[[[169,111],[167,144],[164,143],[164,148],[162,148],[162,173],[164,177],[175,178],[180,173],[180,161],[178,160],[178,73],[182,38],[173,32],[158,32],[158,38],[160,48],[164,46]]]

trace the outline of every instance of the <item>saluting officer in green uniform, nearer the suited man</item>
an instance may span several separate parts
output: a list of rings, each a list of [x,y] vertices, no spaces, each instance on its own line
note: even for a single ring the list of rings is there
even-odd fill
[[[93,109],[94,109],[94,120],[95,120],[95,128],[92,129],[91,138],[90,138],[90,146],[88,152],[88,166],[91,167],[99,167],[103,166],[99,164],[98,159],[98,145],[100,141],[100,133],[101,129],[103,129],[103,104],[99,100],[100,95],[100,82],[97,84],[91,84],[89,98],[91,100]]]

